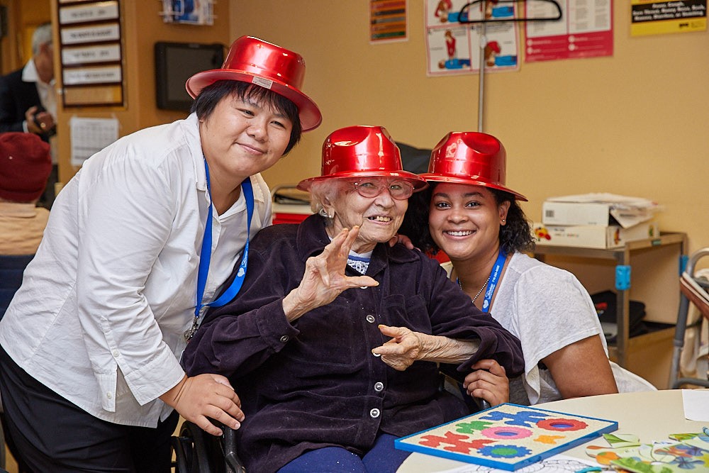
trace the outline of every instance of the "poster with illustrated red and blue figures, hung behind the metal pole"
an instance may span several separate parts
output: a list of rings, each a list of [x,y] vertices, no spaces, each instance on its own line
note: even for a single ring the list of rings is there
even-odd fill
[[[463,9],[469,3],[426,0],[428,75],[476,74],[481,56],[486,72],[519,69],[517,23],[505,21],[515,18],[515,4],[487,1],[485,11],[481,3]]]

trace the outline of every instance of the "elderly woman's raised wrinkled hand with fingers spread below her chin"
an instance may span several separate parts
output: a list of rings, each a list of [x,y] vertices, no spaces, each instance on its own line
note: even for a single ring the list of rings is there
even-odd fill
[[[289,321],[313,308],[330,304],[346,289],[379,285],[369,276],[345,276],[347,255],[357,235],[359,227],[345,228],[320,255],[308,258],[301,284],[283,299],[283,310]]]

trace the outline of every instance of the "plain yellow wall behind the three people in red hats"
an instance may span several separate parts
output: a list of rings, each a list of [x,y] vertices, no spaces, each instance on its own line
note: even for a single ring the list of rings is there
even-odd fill
[[[259,36],[305,57],[304,90],[323,125],[267,182],[320,172],[335,128],[383,125],[432,148],[450,130],[477,130],[478,76],[426,77],[424,1],[408,1],[409,39],[370,45],[366,0],[231,0],[232,36]],[[630,6],[615,0],[613,57],[525,64],[485,75],[484,131],[508,151],[508,185],[530,218],[549,196],[612,192],[664,205],[661,230],[709,246],[709,33],[630,37]]]

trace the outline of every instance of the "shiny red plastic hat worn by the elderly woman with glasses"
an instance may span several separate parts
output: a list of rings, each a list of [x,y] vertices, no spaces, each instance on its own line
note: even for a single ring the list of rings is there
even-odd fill
[[[348,126],[325,138],[322,174],[303,179],[298,189],[307,191],[324,179],[357,177],[398,177],[411,182],[415,191],[427,185],[418,174],[403,170],[401,152],[383,126]]]

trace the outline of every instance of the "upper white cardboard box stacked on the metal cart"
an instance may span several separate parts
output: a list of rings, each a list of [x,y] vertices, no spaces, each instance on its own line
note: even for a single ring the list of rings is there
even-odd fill
[[[611,216],[618,216],[618,220]],[[629,221],[648,221],[653,212],[648,208],[624,207],[610,202],[558,202],[545,201],[542,204],[542,223],[545,225],[596,225],[610,226]],[[624,226],[627,227],[625,223]]]

